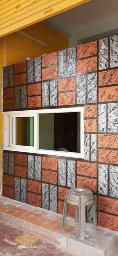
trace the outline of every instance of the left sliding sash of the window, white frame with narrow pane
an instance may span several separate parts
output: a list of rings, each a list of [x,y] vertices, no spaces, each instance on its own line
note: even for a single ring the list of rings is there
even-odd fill
[[[19,111],[18,111],[19,112]],[[4,115],[4,139],[5,150],[36,150],[37,114],[22,111],[6,112]]]

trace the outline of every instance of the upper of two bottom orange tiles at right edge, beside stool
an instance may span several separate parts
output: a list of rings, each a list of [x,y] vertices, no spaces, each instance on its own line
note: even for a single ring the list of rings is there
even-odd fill
[[[98,196],[98,209],[112,214],[117,214],[118,200],[104,196]]]

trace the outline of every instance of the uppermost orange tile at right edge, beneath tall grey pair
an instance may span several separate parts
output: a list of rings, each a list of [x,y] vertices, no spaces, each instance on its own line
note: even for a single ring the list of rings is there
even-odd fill
[[[118,84],[118,69],[101,71],[98,74],[98,85],[114,85]]]

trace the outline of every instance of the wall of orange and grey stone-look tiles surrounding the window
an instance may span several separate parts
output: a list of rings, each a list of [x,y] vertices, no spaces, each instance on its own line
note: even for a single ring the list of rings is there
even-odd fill
[[[4,151],[3,195],[62,213],[67,188],[87,187],[98,225],[118,230],[117,85],[117,35],[3,68],[4,111],[84,106],[84,159]]]

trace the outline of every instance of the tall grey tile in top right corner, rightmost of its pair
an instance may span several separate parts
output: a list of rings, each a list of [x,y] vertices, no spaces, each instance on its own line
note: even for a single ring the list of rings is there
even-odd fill
[[[118,67],[118,35],[110,37],[110,68]]]

